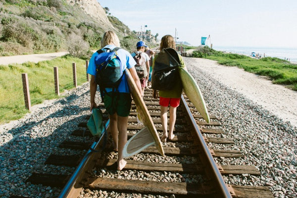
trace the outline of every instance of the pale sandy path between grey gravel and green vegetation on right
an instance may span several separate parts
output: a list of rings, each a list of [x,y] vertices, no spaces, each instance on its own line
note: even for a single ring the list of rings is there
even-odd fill
[[[238,67],[219,65],[203,58],[185,58],[220,83],[236,90],[284,121],[297,127],[297,92],[272,84],[267,77],[248,73]]]

